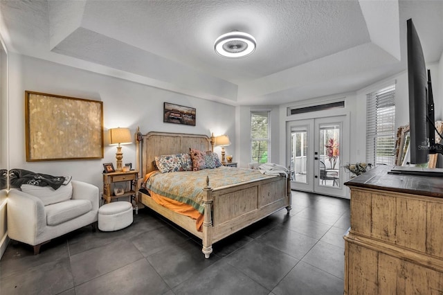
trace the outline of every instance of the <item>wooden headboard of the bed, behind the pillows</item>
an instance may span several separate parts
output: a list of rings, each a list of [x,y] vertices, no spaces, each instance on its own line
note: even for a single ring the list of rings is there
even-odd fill
[[[136,157],[137,170],[141,177],[155,170],[153,162],[162,154],[188,153],[189,148],[197,150],[214,150],[214,137],[204,134],[184,134],[169,132],[149,132],[137,136]]]

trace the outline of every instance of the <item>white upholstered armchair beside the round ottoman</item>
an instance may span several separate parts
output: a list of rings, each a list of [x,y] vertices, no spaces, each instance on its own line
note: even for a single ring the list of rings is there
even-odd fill
[[[8,194],[8,235],[12,240],[34,247],[82,226],[96,230],[99,192],[96,186],[71,181],[72,196],[62,202],[44,205],[42,198],[12,188]]]

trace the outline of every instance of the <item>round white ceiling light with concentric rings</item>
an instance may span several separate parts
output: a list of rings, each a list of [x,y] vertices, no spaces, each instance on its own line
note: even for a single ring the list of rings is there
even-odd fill
[[[223,57],[237,58],[255,51],[255,38],[237,30],[221,35],[215,40],[215,52]]]

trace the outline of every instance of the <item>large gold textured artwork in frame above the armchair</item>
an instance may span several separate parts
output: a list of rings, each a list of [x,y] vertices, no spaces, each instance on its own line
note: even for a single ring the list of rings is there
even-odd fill
[[[25,91],[26,161],[103,158],[103,102]]]

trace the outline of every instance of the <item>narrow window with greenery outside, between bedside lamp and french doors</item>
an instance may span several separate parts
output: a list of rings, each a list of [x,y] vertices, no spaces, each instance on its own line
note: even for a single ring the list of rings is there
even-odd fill
[[[251,111],[251,162],[270,161],[270,114],[270,111]]]

